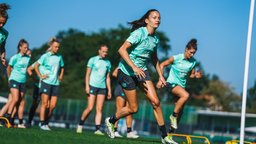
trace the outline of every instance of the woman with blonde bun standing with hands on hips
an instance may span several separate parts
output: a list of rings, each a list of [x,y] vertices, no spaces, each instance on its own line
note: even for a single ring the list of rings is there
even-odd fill
[[[55,109],[59,97],[59,83],[64,74],[64,62],[62,56],[57,53],[59,51],[59,41],[56,37],[52,37],[49,41],[51,50],[43,54],[37,60],[34,68],[41,80],[39,95],[41,95],[42,105],[40,108],[40,123],[42,130],[50,130],[48,126],[49,118]],[[43,66],[43,72],[39,70],[39,66]],[[61,69],[60,75],[59,69]],[[45,75],[47,74],[47,75]],[[47,119],[45,119],[45,110],[50,100],[50,108]]]

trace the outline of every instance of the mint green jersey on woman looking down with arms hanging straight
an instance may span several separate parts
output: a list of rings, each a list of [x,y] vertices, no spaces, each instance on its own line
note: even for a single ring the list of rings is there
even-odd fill
[[[92,68],[89,85],[95,88],[106,88],[107,73],[110,72],[111,63],[106,58],[94,56],[89,59],[87,67]]]

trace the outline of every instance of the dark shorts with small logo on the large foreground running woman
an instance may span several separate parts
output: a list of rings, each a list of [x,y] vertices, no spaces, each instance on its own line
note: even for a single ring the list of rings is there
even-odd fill
[[[140,81],[151,81],[151,77],[149,76],[149,72],[147,70],[144,71],[146,77],[133,77],[129,76],[122,72],[122,70],[117,70],[117,83],[122,86],[123,89],[127,91],[132,91],[136,89],[137,84]]]

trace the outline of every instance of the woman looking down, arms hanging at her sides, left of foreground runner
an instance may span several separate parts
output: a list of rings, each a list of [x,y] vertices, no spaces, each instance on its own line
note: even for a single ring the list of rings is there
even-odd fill
[[[108,89],[107,99],[111,99],[110,85],[110,68],[111,63],[106,59],[108,47],[101,45],[99,55],[89,59],[85,75],[85,91],[88,95],[88,106],[83,111],[81,120],[77,125],[76,132],[81,133],[83,123],[89,116],[96,101],[96,116],[95,116],[95,135],[104,135],[100,131],[100,123],[102,119],[102,107],[105,101],[106,87]],[[107,85],[107,86],[106,86]]]

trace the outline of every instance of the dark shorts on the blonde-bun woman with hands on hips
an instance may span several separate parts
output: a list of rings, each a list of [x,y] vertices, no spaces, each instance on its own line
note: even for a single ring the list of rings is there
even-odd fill
[[[59,86],[54,86],[50,84],[46,84],[45,82],[41,81],[41,88],[39,90],[39,95],[42,93],[50,96],[59,96]]]

